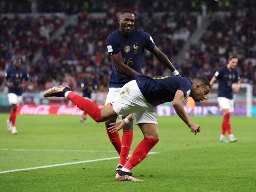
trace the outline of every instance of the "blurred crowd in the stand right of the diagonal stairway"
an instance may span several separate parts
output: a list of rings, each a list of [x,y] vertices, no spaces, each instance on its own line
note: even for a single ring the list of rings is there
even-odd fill
[[[240,10],[211,18],[206,32],[197,44],[191,45],[181,65],[183,76],[206,76],[228,63],[228,56],[239,58],[237,70],[241,83],[254,86],[256,95],[256,10]]]

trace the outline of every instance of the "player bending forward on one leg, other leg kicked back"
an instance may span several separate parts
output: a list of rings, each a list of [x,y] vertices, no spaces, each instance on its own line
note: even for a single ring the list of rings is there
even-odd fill
[[[200,125],[193,123],[183,108],[183,102],[190,96],[196,102],[204,101],[211,89],[210,82],[205,77],[198,77],[191,82],[190,79],[179,76],[148,77],[135,75],[135,80],[125,84],[118,95],[103,108],[99,109],[92,101],[84,99],[70,91],[69,86],[64,84],[59,87],[48,89],[44,97],[66,97],[86,111],[96,122],[107,121],[117,116],[128,115],[125,119],[113,123],[110,134],[129,124],[133,120],[137,124],[144,139],[134,149],[132,156],[116,173],[116,181],[142,181],[133,177],[131,169],[146,158],[150,149],[159,141],[157,129],[157,117],[154,106],[170,102],[174,106],[178,116],[188,125],[191,132],[200,132]],[[111,124],[111,125],[113,125]]]

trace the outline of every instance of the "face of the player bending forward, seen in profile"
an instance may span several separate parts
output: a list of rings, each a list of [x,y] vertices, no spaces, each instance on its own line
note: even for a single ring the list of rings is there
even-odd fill
[[[204,101],[206,99],[206,95],[209,93],[209,86],[203,86],[200,84],[193,84],[191,97],[195,102]]]

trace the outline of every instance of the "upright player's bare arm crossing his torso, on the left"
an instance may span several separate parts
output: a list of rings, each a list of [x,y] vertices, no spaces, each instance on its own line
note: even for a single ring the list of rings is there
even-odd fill
[[[117,54],[114,54],[114,55],[110,55],[110,58],[112,62],[116,65],[116,69],[119,73],[123,73],[131,78],[133,77],[133,75],[141,75],[137,71],[133,70],[131,67],[128,67],[127,65],[125,65],[125,63],[123,62],[123,56],[121,52],[118,52]]]

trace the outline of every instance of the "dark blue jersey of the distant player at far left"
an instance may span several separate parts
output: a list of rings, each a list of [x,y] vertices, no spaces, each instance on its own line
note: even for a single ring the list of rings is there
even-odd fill
[[[8,93],[15,93],[16,95],[21,95],[23,89],[19,89],[18,85],[22,83],[23,80],[28,80],[29,75],[24,69],[16,70],[13,66],[9,67],[6,71],[6,80],[13,83],[13,88],[9,88]]]

